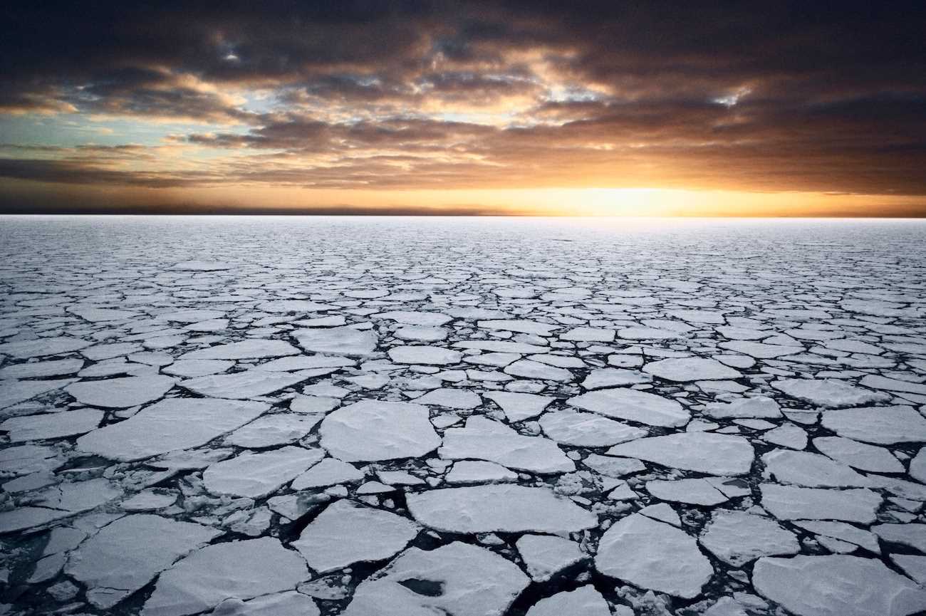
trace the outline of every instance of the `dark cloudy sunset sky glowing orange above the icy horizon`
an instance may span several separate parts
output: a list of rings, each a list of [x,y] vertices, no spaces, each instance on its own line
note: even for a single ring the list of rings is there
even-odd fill
[[[0,211],[926,216],[922,3],[61,5]]]

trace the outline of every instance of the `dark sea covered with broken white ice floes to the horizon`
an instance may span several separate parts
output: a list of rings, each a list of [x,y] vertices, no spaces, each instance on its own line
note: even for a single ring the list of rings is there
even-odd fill
[[[7,217],[0,291],[0,612],[926,610],[922,221]]]

